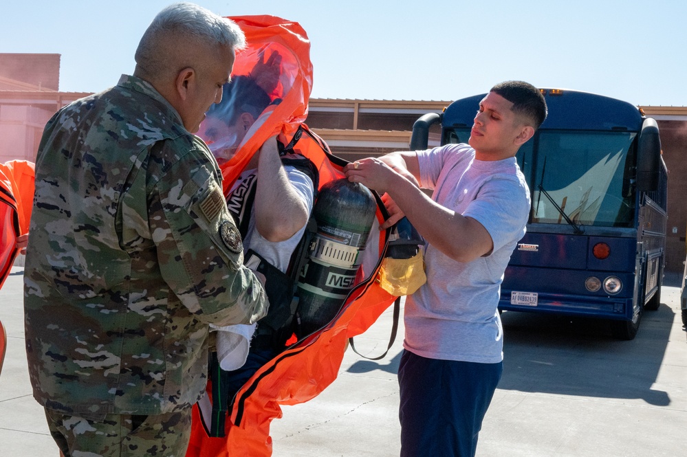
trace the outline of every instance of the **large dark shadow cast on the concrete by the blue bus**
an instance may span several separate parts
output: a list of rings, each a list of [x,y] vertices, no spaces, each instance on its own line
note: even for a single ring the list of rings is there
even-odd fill
[[[675,313],[645,311],[632,341],[613,339],[603,320],[505,311],[499,389],[670,404],[653,390]]]

